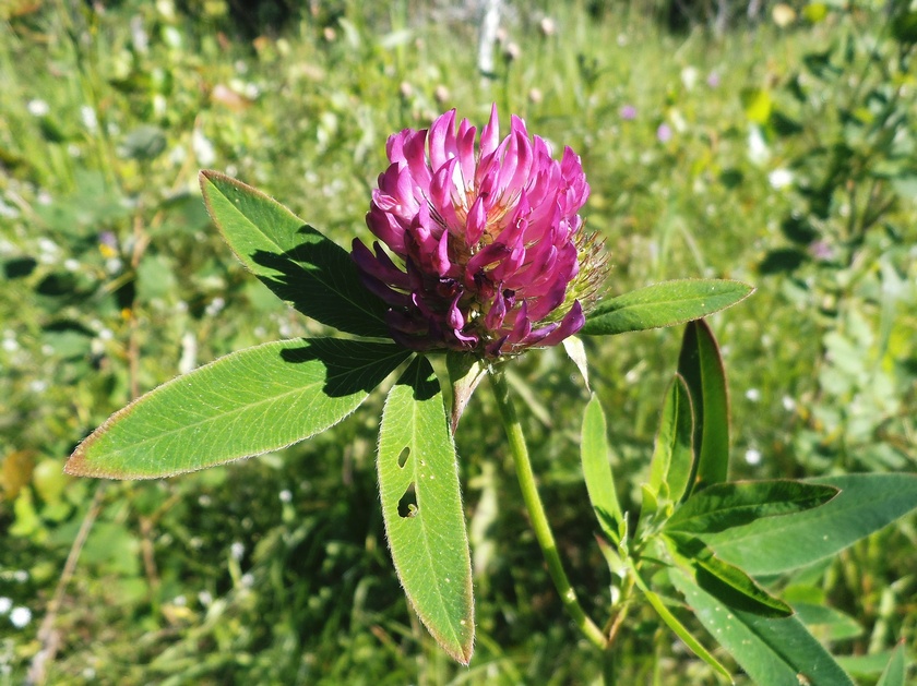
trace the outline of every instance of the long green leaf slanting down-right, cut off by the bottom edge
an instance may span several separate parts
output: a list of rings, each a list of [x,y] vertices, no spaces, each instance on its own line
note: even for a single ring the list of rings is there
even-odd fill
[[[677,568],[669,569],[669,578],[701,624],[755,684],[854,686],[850,677],[796,617],[773,618],[725,607]]]

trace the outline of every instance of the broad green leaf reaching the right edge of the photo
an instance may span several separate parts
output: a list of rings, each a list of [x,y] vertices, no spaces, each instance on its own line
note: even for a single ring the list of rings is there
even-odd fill
[[[917,508],[917,474],[843,474],[806,483],[841,493],[821,507],[704,534],[703,540],[749,574],[779,574],[834,555]]]

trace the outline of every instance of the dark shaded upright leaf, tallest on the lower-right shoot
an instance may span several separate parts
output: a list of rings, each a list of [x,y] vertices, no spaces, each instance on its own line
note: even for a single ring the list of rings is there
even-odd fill
[[[688,384],[694,410],[694,462],[691,491],[726,481],[729,469],[729,396],[719,346],[704,321],[684,327],[678,373]]]

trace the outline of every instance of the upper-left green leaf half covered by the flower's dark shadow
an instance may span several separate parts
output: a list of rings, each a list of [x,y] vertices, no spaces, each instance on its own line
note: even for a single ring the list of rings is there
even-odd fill
[[[361,282],[350,255],[264,193],[216,171],[201,191],[242,264],[306,316],[358,336],[389,338],[386,306]]]

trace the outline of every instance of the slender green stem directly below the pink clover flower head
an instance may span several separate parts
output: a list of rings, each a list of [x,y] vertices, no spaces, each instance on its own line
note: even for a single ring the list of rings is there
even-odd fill
[[[490,385],[493,388],[493,396],[497,398],[497,407],[500,410],[500,418],[503,420],[503,428],[507,430],[510,452],[512,453],[513,462],[516,468],[516,478],[522,489],[525,507],[528,509],[528,517],[532,520],[532,529],[535,531],[538,545],[541,546],[541,554],[548,563],[548,573],[551,575],[551,580],[558,593],[560,593],[563,606],[567,607],[567,612],[573,618],[573,623],[590,641],[604,650],[608,645],[605,635],[583,611],[580,601],[576,599],[576,592],[570,586],[570,581],[567,579],[567,573],[563,570],[563,565],[560,562],[557,543],[555,542],[553,533],[551,533],[548,518],[545,515],[545,507],[538,495],[538,488],[535,484],[535,474],[532,471],[532,462],[528,459],[528,447],[525,445],[525,435],[522,432],[522,425],[519,423],[519,417],[516,417],[515,408],[510,398],[510,389],[507,386],[507,378],[503,376],[502,370],[491,370]]]

